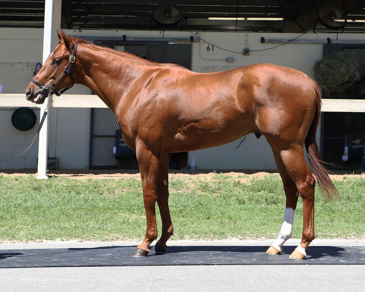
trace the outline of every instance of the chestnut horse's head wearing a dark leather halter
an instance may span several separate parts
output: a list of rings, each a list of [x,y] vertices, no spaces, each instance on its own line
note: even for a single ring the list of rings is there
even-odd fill
[[[69,88],[74,84],[71,72],[76,70],[75,57],[71,56],[73,51],[76,54],[74,38],[67,37],[64,31],[60,33],[57,30],[57,35],[58,46],[48,56],[45,64],[26,89],[26,99],[33,103],[42,104],[49,92],[59,95],[63,92],[61,89]]]

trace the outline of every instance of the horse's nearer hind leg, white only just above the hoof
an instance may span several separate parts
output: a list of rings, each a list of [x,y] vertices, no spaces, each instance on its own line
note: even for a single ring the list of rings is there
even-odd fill
[[[277,147],[281,160],[303,199],[303,233],[300,245],[289,256],[292,260],[306,257],[306,249],[314,239],[314,187],[315,179],[304,158],[303,145],[292,144],[290,147]]]

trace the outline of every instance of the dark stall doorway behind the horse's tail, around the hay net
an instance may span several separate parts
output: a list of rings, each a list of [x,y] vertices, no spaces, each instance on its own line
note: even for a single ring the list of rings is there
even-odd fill
[[[363,45],[325,45],[323,55],[333,54],[339,50],[354,52],[360,65],[359,73],[362,78],[352,88],[344,93],[323,92],[323,98],[331,99],[365,99],[361,82],[365,78],[365,46]],[[323,112],[321,123],[321,155],[330,169],[351,169],[359,167],[363,155],[365,113],[361,112]],[[356,142],[360,141],[359,145]],[[352,145],[352,144],[353,145]],[[360,145],[362,143],[362,145]],[[362,148],[361,148],[362,147]],[[354,148],[356,151],[352,151]],[[357,149],[359,148],[359,149]],[[361,149],[360,149],[361,148]],[[362,150],[362,151],[361,151]]]

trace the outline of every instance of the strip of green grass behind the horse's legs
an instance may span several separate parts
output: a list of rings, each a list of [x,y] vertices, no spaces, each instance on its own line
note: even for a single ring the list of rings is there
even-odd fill
[[[316,237],[364,238],[365,180],[334,183],[341,202],[326,201],[316,189]],[[169,188],[172,239],[275,238],[280,231],[285,195],[277,175],[254,178],[249,184],[222,174],[209,181],[173,178]],[[299,198],[296,238],[301,237],[302,214]],[[139,180],[0,176],[0,242],[142,239],[145,226]]]

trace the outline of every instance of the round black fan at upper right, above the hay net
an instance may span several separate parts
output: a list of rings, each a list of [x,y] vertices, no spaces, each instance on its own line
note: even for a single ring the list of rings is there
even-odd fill
[[[319,8],[317,18],[323,26],[333,30],[343,28],[347,22],[345,11],[335,5],[324,5]]]

